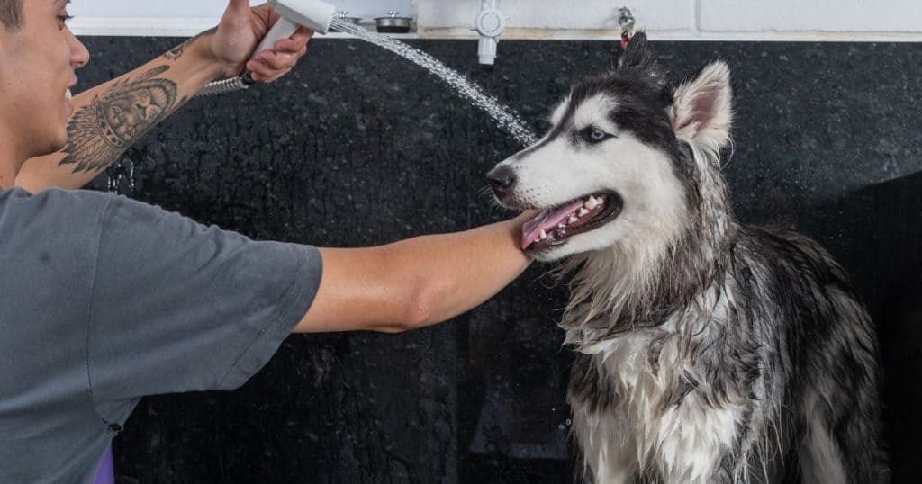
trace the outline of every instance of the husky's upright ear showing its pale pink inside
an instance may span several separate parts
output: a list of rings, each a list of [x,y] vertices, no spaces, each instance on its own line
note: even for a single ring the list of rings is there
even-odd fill
[[[723,61],[712,62],[673,92],[672,128],[692,147],[719,151],[730,141],[732,103],[730,69]]]

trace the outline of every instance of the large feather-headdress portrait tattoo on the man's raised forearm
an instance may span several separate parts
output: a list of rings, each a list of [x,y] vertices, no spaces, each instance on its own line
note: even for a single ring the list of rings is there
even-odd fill
[[[117,81],[75,112],[67,123],[61,164],[77,165],[75,173],[102,171],[179,109],[188,98],[177,102],[176,83],[157,78],[168,70],[168,65],[160,65],[134,80]]]

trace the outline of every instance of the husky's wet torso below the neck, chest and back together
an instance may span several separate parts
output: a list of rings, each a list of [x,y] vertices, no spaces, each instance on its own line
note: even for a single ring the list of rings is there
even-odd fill
[[[876,337],[845,271],[796,233],[731,230],[726,270],[687,306],[577,354],[585,477],[888,481]]]

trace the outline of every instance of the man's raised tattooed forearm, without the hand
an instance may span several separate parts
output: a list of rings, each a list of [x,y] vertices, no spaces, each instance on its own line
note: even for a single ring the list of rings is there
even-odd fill
[[[67,123],[65,148],[30,159],[18,186],[32,193],[51,186],[79,188],[124,154],[150,128],[176,112],[208,82],[219,77],[207,61],[203,32],[122,77],[77,95]]]

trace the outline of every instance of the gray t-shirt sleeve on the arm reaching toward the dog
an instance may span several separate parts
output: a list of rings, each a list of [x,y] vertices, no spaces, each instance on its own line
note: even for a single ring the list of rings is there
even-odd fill
[[[239,387],[320,284],[313,247],[254,242],[124,197],[100,227],[88,327],[97,405]]]

